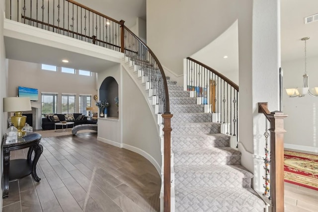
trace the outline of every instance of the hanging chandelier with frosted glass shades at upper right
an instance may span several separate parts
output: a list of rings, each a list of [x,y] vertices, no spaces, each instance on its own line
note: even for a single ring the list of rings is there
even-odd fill
[[[311,96],[317,97],[318,96],[318,87],[315,88],[309,88],[308,86],[308,74],[307,74],[307,61],[306,61],[306,41],[309,39],[309,37],[302,38],[302,41],[305,41],[305,72],[303,75],[303,87],[301,88],[287,88],[286,92],[289,97],[303,97],[306,93],[308,93]]]

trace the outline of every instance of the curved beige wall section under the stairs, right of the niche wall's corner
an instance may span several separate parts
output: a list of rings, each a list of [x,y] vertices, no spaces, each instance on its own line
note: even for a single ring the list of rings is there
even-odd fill
[[[161,152],[158,125],[147,100],[126,71],[122,72],[123,85],[123,144],[150,160],[159,171]],[[145,155],[149,155],[148,157]]]

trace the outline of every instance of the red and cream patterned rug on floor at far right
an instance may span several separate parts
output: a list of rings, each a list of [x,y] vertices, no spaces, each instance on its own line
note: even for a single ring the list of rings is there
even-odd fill
[[[318,190],[318,155],[285,150],[284,181]]]

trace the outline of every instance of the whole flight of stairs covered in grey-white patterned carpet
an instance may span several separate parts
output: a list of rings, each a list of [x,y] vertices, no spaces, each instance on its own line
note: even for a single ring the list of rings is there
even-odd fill
[[[171,119],[176,212],[263,212],[251,188],[252,173],[240,165],[212,113],[175,81],[167,80]],[[173,187],[173,186],[172,186]],[[173,189],[173,188],[171,188]]]

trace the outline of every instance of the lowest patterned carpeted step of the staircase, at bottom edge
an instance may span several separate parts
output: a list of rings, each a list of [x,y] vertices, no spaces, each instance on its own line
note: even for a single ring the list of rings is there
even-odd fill
[[[176,212],[263,212],[265,203],[251,188],[176,188]]]

